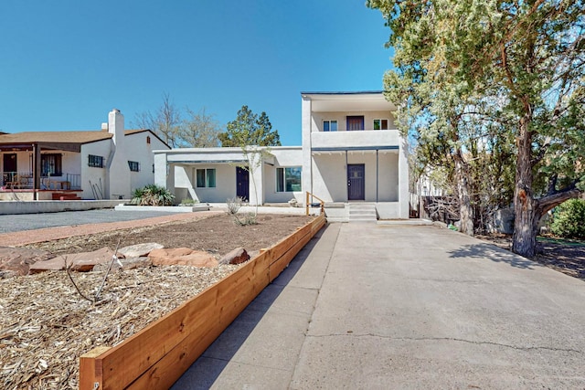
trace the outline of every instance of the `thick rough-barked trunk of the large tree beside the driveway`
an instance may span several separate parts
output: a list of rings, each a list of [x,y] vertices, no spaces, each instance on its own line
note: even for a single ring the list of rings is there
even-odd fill
[[[514,236],[512,251],[532,258],[537,246],[537,226],[540,216],[532,193],[532,133],[529,131],[531,113],[520,120],[517,138],[516,188],[514,190]]]

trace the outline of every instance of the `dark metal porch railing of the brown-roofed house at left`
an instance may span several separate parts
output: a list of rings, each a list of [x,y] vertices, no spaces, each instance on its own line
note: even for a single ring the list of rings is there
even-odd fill
[[[32,190],[34,188],[32,172],[2,172],[2,189],[5,190]],[[80,190],[80,174],[61,174],[59,176],[42,176],[41,190]]]

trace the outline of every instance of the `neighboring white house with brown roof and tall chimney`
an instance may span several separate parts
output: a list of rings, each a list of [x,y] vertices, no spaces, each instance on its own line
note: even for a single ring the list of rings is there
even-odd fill
[[[101,131],[0,134],[0,198],[129,198],[154,184],[154,149],[170,148],[150,130],[125,131],[118,110]]]

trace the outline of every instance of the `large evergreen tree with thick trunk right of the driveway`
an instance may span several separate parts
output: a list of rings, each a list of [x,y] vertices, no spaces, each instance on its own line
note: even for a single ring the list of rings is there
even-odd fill
[[[469,153],[469,141],[481,138],[499,142],[479,143],[486,153],[512,153],[513,250],[534,256],[540,217],[585,187],[585,5],[367,5],[382,12],[392,31],[388,46],[396,51],[395,69],[385,75],[385,85],[388,98],[401,104],[402,131],[414,132],[431,150],[446,145],[452,155],[458,148]],[[424,121],[429,125],[417,127]],[[467,132],[470,122],[475,125]],[[465,186],[462,177],[458,184]]]

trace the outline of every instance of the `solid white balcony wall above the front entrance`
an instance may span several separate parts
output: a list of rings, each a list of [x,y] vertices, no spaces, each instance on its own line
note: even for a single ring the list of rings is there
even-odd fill
[[[399,149],[399,131],[361,130],[353,132],[312,132],[312,150]]]

